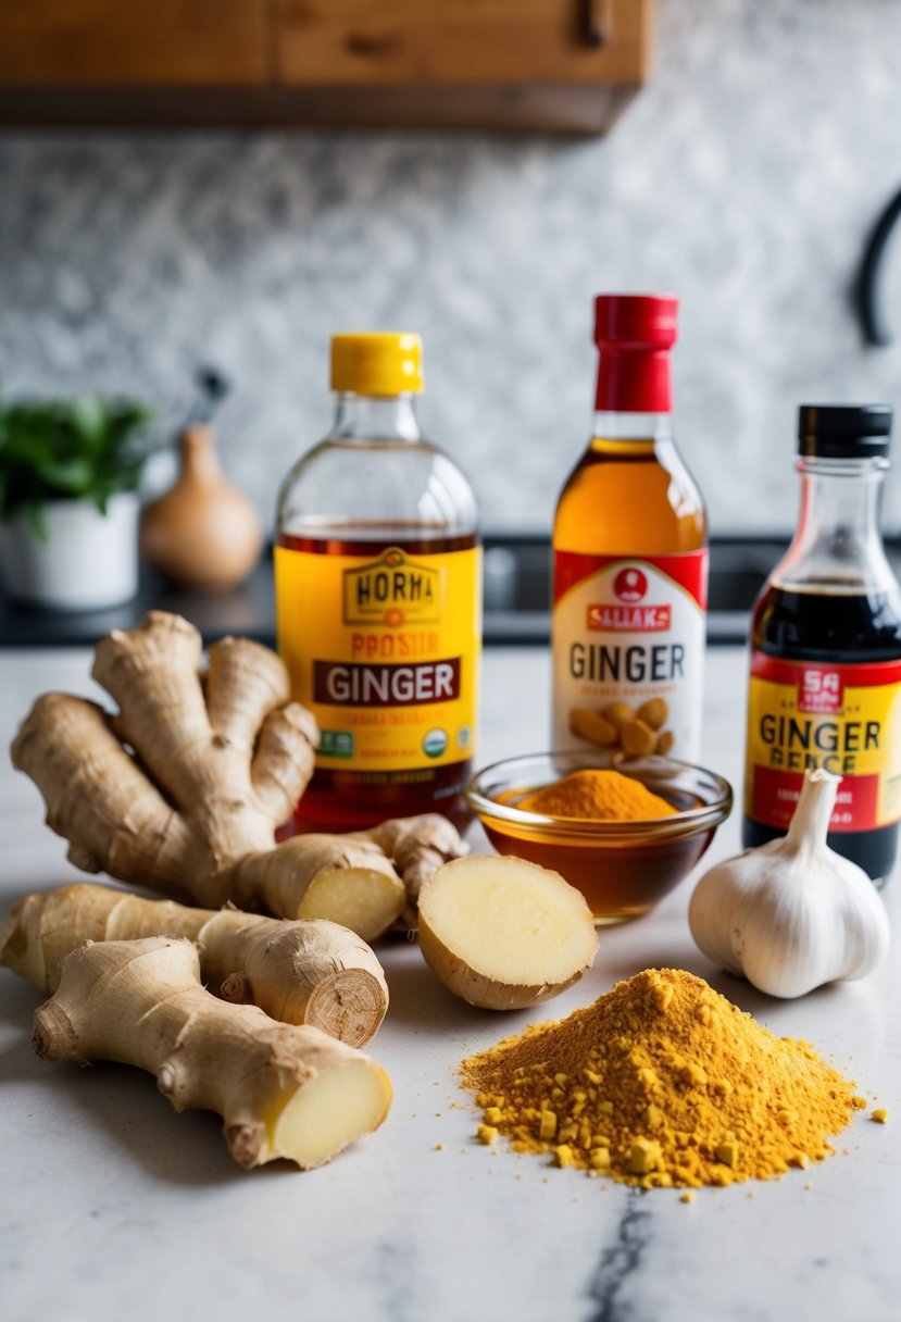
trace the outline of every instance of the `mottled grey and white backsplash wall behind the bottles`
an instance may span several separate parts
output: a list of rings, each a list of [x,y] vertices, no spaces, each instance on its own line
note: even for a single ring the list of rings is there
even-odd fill
[[[678,435],[713,530],[787,530],[798,402],[901,406],[901,237],[897,344],[864,348],[851,307],[901,185],[901,3],[658,8],[651,79],[598,140],[0,137],[4,389],[135,393],[165,434],[214,362],[225,463],[268,520],[329,422],[329,334],[417,329],[427,431],[485,525],[543,530],[591,422],[592,295],[674,291]]]

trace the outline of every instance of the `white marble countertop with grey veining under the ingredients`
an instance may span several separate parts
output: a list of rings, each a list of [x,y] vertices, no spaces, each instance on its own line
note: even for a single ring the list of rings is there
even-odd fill
[[[0,742],[46,687],[90,690],[86,653],[0,653]],[[490,650],[482,755],[546,742],[542,650]],[[704,759],[739,783],[744,658],[709,656]],[[737,845],[737,820],[716,857]],[[0,908],[74,875],[36,791],[0,767]],[[243,1173],[214,1117],[176,1116],[120,1066],[48,1066],[38,997],[0,970],[0,1311],[4,1322],[894,1322],[901,1173],[897,956],[860,985],[769,1001],[719,974],[686,924],[691,883],[602,933],[551,1007],[498,1018],[453,1001],[414,947],[384,948],[391,1011],[373,1054],[395,1081],[383,1129],[318,1171]],[[886,900],[898,923],[896,878]],[[473,1141],[454,1068],[530,1018],[568,1013],[647,965],[708,977],[773,1031],[807,1038],[890,1110],[782,1181],[649,1195]],[[444,1150],[437,1145],[444,1144]]]

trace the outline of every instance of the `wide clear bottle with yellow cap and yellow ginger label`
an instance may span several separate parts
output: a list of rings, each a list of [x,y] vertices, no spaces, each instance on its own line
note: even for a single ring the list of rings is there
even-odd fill
[[[299,830],[461,821],[481,646],[476,500],[416,418],[423,348],[332,340],[332,431],[279,493],[279,652],[320,726]]]

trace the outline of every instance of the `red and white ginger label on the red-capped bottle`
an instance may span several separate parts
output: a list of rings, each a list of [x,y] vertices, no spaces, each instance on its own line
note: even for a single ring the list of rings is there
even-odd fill
[[[705,608],[707,550],[556,551],[554,747],[695,761]]]

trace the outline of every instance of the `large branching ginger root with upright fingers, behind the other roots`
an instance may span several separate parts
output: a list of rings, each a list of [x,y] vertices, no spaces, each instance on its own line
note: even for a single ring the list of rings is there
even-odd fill
[[[256,898],[236,892],[229,874],[272,849],[313,772],[318,732],[288,702],[268,648],[223,639],[205,676],[201,661],[201,636],[181,616],[152,611],[136,629],[114,631],[91,674],[119,715],[45,694],[12,760],[36,781],[77,867],[214,908]]]

